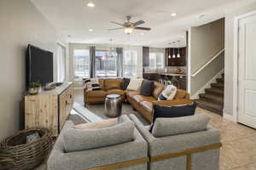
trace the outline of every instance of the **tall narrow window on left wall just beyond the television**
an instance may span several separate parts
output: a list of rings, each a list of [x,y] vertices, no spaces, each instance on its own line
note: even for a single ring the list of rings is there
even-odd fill
[[[66,80],[67,56],[66,48],[57,43],[57,81],[64,82]]]

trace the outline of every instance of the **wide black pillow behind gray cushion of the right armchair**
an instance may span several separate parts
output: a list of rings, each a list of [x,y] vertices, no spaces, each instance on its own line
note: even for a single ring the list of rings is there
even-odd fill
[[[195,114],[196,103],[192,105],[176,105],[176,106],[161,106],[154,105],[154,115],[152,125],[150,127],[150,132],[154,127],[154,122],[157,118],[171,118],[180,116],[192,116]]]

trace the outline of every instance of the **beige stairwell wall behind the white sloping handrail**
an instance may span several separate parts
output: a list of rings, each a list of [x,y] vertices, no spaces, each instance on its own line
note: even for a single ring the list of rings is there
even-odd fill
[[[190,70],[195,73],[224,48],[224,19],[207,25],[192,27],[190,35]],[[195,77],[191,77],[191,95],[201,89],[212,77],[224,68],[224,54],[214,59],[210,65]]]

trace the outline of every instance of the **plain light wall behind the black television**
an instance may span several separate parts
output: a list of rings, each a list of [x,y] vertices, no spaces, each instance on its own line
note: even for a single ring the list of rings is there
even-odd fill
[[[29,0],[0,1],[0,140],[20,129],[27,44],[55,53],[57,40],[55,28]]]

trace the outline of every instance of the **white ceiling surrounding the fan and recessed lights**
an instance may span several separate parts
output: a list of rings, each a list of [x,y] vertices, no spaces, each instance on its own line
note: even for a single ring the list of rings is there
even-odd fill
[[[38,10],[68,42],[142,45],[167,48],[169,42],[179,40],[185,46],[185,31],[191,26],[201,26],[224,14],[252,3],[253,0],[95,0],[96,7],[89,8],[84,0],[31,0]],[[177,13],[172,17],[172,13]],[[116,28],[110,21],[125,22],[145,20],[142,26],[151,31],[133,31],[130,36]],[[89,31],[93,29],[93,31]]]

